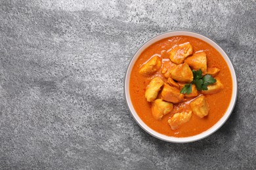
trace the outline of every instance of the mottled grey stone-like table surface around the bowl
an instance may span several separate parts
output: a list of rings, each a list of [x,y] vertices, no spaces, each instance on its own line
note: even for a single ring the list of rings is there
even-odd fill
[[[255,1],[0,1],[0,169],[256,169]],[[133,54],[188,29],[226,50],[238,101],[213,135],[160,141],[127,109]]]

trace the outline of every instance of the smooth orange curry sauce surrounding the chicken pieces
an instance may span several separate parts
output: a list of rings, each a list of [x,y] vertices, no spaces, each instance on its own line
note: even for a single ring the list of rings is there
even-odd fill
[[[178,111],[189,110],[189,99],[186,103],[174,104],[173,111],[171,113],[163,116],[161,120],[155,120],[151,112],[151,103],[146,101],[145,98],[146,86],[150,80],[156,76],[160,76],[165,82],[167,82],[167,79],[161,74],[161,69],[152,76],[140,75],[139,69],[141,65],[148,61],[152,56],[161,56],[161,52],[163,50],[169,50],[173,46],[184,42],[190,42],[194,48],[194,52],[203,50],[207,54],[207,67],[217,67],[221,69],[219,75],[215,76],[215,78],[219,78],[219,80],[221,80],[224,88],[219,93],[205,95],[207,102],[209,103],[209,114],[207,116],[199,118],[195,114],[192,114],[192,118],[186,122],[186,124],[183,124],[179,129],[173,131],[167,120]],[[164,62],[169,59],[169,56],[162,55],[161,59],[162,62]],[[221,54],[219,54],[219,52],[217,52],[217,50],[215,50],[211,45],[207,44],[207,42],[188,36],[169,37],[155,42],[146,48],[146,50],[140,54],[133,70],[131,71],[131,79],[129,83],[133,107],[142,121],[150,128],[158,131],[158,133],[173,137],[189,137],[198,135],[212,127],[221,119],[228,109],[232,95],[232,78],[230,70],[228,69],[228,65]],[[198,93],[200,95],[200,92]]]

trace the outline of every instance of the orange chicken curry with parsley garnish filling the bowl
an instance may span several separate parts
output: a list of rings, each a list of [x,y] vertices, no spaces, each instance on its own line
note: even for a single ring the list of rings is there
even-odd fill
[[[200,39],[175,36],[150,45],[131,71],[130,95],[142,121],[173,137],[198,135],[228,109],[232,78],[226,61]]]

